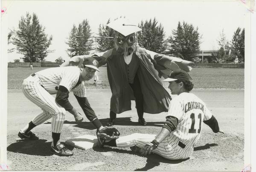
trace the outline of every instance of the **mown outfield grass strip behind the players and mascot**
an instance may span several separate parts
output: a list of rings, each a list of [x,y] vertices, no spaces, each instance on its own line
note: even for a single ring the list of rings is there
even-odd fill
[[[26,77],[43,69],[47,68],[8,68],[8,89],[21,89]],[[107,68],[99,69],[99,86],[109,86]],[[244,89],[244,69],[194,68],[189,74],[195,89]],[[87,81],[87,86],[93,86],[92,83],[93,80]],[[164,87],[167,88],[168,83],[164,82]]]

